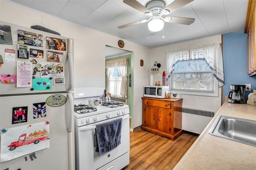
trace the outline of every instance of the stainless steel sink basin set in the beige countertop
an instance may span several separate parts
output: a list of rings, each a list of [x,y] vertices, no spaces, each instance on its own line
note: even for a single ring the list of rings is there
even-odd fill
[[[256,121],[218,116],[209,133],[256,147]]]

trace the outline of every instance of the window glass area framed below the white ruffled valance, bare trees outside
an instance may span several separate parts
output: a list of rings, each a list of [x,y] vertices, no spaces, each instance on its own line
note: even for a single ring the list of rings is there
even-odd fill
[[[171,90],[213,93],[213,70],[205,59],[178,61],[174,65],[171,84]]]

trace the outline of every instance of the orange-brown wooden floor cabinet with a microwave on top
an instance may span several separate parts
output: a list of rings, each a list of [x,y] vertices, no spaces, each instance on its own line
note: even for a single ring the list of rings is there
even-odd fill
[[[175,140],[182,134],[182,99],[142,98],[142,129]]]

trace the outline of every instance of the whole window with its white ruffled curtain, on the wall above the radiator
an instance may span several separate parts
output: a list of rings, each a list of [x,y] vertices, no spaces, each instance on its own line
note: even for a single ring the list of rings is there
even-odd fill
[[[224,84],[220,44],[167,52],[166,70],[172,93],[218,96]]]

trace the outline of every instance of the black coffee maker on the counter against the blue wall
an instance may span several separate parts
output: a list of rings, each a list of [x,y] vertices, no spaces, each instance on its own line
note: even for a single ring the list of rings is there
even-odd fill
[[[233,91],[228,92],[228,102],[245,104],[245,88],[246,85],[230,85],[230,89]]]

